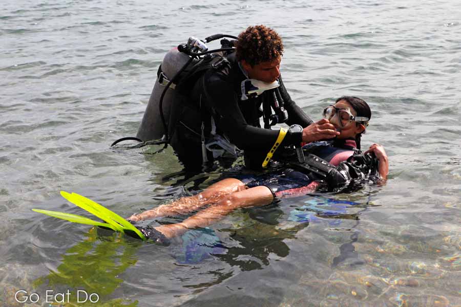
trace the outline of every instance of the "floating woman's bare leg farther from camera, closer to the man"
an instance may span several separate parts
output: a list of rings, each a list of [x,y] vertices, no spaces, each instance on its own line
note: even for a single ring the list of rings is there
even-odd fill
[[[139,214],[133,214],[128,220],[137,222],[154,217],[195,211],[205,205],[220,201],[228,194],[244,189],[246,189],[246,186],[240,180],[235,178],[224,179],[209,186],[197,195],[180,198],[170,204],[161,205]]]

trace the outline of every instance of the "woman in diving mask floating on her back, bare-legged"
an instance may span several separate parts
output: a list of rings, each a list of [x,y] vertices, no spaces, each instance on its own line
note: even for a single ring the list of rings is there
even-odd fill
[[[247,177],[243,180],[224,179],[197,195],[181,198],[171,204],[134,214],[128,220],[134,223],[149,218],[196,211],[207,206],[181,223],[154,228],[140,228],[146,237],[159,243],[167,243],[169,238],[181,235],[196,227],[206,227],[237,208],[263,206],[277,198],[307,194],[317,190],[325,181],[330,186],[334,181],[334,186],[338,184],[338,181],[345,183],[351,178],[363,177],[364,172],[367,175],[372,167],[367,164],[372,164],[370,162],[374,161],[367,153],[374,153],[379,161],[378,181],[386,182],[389,162],[383,146],[373,144],[364,152],[363,156],[354,156],[354,153],[360,149],[361,136],[371,118],[368,104],[357,97],[341,97],[336,100],[334,105],[324,109],[323,116],[341,134],[332,142],[312,142],[303,147],[304,151],[316,155],[313,156],[313,160],[311,159],[313,167],[301,166],[297,168],[294,167],[294,164],[290,164],[289,168],[267,173],[263,176]],[[364,157],[367,156],[368,159],[365,159]],[[361,161],[354,163],[353,160]],[[327,175],[321,177],[319,170],[324,166],[329,167],[330,170],[325,171]],[[358,173],[361,174],[358,175]]]

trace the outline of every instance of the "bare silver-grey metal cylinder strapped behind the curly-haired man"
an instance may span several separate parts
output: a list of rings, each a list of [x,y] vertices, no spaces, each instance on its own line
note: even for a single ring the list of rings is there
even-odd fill
[[[137,138],[143,141],[149,141],[160,139],[165,134],[165,129],[159,112],[160,97],[166,84],[168,84],[171,78],[176,75],[176,73],[189,59],[190,56],[183,52],[179,52],[178,48],[174,48],[165,54],[161,64],[161,73],[157,77],[157,80],[155,80],[151,98],[149,99],[149,103],[145,109],[141,125],[139,126],[138,133],[136,135]],[[190,67],[192,67],[195,61],[190,64]],[[175,85],[176,84],[171,84],[163,97],[162,109],[166,123],[168,123],[170,118]]]

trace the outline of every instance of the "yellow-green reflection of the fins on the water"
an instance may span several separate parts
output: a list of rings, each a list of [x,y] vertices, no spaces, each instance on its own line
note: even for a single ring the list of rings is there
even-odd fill
[[[130,303],[121,298],[110,299],[110,296],[123,283],[120,275],[138,261],[136,252],[142,243],[120,234],[100,236],[98,231],[110,233],[92,228],[85,240],[64,253],[56,271],[36,279],[33,287],[53,289],[55,293],[69,289],[71,295],[69,299],[66,297],[65,306],[77,305],[77,290],[86,291],[88,295],[96,293],[98,306],[137,306],[137,301]],[[85,295],[79,300],[85,300]],[[88,301],[78,305],[94,304]]]

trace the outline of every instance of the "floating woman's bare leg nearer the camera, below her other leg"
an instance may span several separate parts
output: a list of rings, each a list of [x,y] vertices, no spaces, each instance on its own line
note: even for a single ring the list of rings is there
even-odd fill
[[[189,229],[208,226],[237,208],[263,206],[274,200],[272,192],[265,186],[241,190],[220,200],[215,205],[206,208],[177,224],[155,227],[167,238],[181,235]]]

